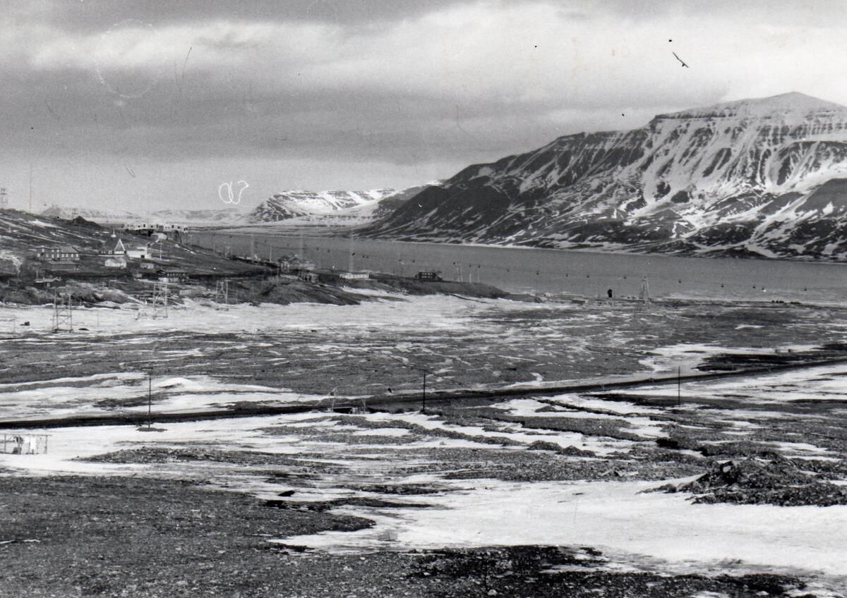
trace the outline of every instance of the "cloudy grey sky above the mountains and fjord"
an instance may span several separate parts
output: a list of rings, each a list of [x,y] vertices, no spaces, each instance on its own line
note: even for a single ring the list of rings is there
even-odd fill
[[[688,107],[847,104],[842,0],[0,0],[0,31],[0,185],[33,211],[402,189]]]

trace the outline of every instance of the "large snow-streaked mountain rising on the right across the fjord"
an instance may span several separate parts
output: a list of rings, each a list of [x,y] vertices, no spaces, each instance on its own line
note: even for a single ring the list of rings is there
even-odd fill
[[[704,255],[847,255],[847,107],[800,93],[661,114],[467,167],[368,234]]]

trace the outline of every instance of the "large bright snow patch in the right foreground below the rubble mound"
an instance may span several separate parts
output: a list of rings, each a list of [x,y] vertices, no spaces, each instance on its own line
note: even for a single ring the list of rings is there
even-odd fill
[[[607,556],[660,559],[668,569],[683,572],[725,571],[729,562],[739,561],[740,569],[847,575],[841,546],[847,507],[696,505],[682,494],[643,493],[655,486],[479,480],[479,486],[466,491],[430,497],[428,502],[438,508],[369,513],[377,521],[374,528],[280,541],[334,552],[595,546]],[[386,531],[396,540],[382,540]]]

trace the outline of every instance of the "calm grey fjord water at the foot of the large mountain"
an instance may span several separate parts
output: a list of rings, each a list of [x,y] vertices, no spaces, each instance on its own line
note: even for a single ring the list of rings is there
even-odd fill
[[[481,245],[406,243],[252,233],[198,231],[191,242],[230,254],[303,255],[319,267],[412,276],[440,271],[445,280],[493,284],[513,292],[615,297],[639,294],[647,278],[654,298],[742,299],[841,304],[847,268],[841,264],[780,260],[636,255]]]

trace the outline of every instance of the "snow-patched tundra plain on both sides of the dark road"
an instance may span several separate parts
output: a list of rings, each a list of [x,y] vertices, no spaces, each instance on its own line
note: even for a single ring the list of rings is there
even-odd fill
[[[4,339],[3,420],[318,408],[31,431],[47,454],[0,456],[0,595],[844,595],[837,361],[425,413],[332,402],[424,369],[438,389],[782,363],[841,341],[847,311],[396,299],[91,310],[88,331]]]

